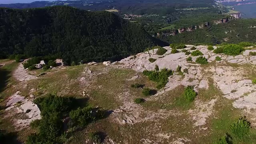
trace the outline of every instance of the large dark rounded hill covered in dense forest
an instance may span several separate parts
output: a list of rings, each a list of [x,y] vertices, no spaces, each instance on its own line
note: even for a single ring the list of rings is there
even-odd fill
[[[54,55],[66,62],[117,60],[152,45],[166,45],[110,12],[68,6],[0,8],[0,58]]]

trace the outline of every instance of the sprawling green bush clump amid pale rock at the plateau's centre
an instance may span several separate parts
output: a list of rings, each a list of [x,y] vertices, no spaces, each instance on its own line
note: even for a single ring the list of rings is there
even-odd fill
[[[158,89],[163,88],[168,82],[168,77],[173,74],[172,70],[168,70],[167,68],[160,71],[144,70],[142,73],[148,76],[149,80],[157,82],[156,88]]]

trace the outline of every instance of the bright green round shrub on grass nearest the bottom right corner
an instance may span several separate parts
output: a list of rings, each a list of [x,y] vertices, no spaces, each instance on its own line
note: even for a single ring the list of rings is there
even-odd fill
[[[244,118],[240,118],[230,126],[230,130],[237,138],[242,139],[244,136],[249,134],[250,123]]]

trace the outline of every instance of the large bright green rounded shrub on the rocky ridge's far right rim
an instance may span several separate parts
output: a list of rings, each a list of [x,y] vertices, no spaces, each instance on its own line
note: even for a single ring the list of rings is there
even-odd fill
[[[228,44],[223,46],[223,53],[231,56],[239,55],[243,50],[244,48],[237,44]]]

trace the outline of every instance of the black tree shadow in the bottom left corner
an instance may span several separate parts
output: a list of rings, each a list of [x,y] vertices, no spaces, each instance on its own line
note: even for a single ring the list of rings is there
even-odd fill
[[[18,134],[17,132],[9,132],[0,131],[0,144],[22,144],[17,140]]]

